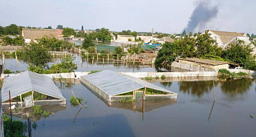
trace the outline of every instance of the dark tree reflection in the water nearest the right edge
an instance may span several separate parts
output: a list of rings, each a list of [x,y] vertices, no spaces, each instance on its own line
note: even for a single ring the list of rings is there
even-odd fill
[[[243,95],[252,86],[253,79],[242,78],[237,80],[227,80],[220,82],[222,92],[230,97],[236,97],[237,95]]]

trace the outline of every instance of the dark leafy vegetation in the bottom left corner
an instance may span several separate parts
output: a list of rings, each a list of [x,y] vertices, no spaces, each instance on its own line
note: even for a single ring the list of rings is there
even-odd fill
[[[7,115],[3,115],[5,137],[25,137],[27,125],[20,120],[10,121]]]

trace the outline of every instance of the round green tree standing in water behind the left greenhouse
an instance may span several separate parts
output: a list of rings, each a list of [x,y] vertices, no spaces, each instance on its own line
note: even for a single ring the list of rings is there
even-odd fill
[[[39,66],[41,68],[48,67],[48,63],[52,60],[52,55],[48,48],[37,43],[25,45],[23,48],[22,60],[32,66]]]

